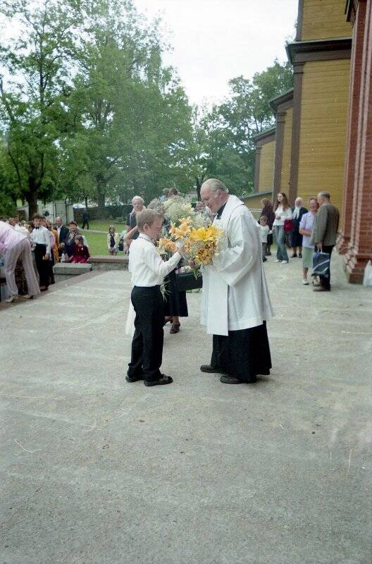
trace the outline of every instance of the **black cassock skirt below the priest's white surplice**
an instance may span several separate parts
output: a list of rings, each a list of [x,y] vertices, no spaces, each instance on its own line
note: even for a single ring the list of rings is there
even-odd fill
[[[266,321],[251,329],[229,331],[228,336],[213,335],[211,366],[246,382],[255,381],[257,374],[269,374],[271,355]]]

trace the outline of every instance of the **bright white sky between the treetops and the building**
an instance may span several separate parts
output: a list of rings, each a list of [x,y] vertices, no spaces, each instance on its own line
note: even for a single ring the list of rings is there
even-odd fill
[[[221,102],[228,80],[287,61],[298,0],[133,0],[138,11],[161,15],[173,51],[164,62],[178,75],[193,104]]]

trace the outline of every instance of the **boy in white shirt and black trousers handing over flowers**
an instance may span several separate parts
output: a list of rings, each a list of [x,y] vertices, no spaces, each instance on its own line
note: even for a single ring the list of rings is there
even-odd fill
[[[175,252],[163,262],[154,241],[159,238],[163,217],[154,209],[144,209],[137,214],[140,235],[130,245],[129,269],[132,273],[132,305],[135,308],[135,334],[128,367],[128,382],[144,381],[145,386],[171,384],[171,376],[161,374],[163,355],[164,300],[160,291],[163,278],[178,262],[180,252]]]

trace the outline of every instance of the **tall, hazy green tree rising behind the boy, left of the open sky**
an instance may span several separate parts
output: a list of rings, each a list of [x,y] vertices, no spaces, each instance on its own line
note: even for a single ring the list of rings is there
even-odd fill
[[[177,161],[190,135],[190,108],[173,71],[162,66],[156,22],[145,26],[130,1],[116,0],[99,0],[84,19],[69,100],[75,133],[62,146],[77,183],[92,183],[102,216],[107,197],[151,200],[164,183],[182,180]]]

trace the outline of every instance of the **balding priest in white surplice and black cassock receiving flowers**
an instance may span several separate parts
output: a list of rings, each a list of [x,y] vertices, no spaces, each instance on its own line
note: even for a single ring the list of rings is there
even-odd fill
[[[221,252],[203,271],[202,325],[213,335],[213,352],[211,364],[200,369],[223,374],[223,384],[252,383],[271,369],[266,321],[273,308],[258,224],[220,180],[206,180],[200,193],[216,214],[213,225],[226,235]]]

